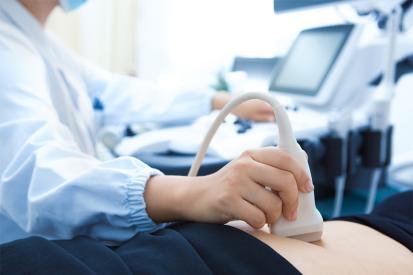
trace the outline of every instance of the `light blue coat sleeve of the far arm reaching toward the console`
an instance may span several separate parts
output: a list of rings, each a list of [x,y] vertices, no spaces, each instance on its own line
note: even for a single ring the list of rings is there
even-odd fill
[[[90,96],[99,98],[105,107],[106,125],[184,124],[211,111],[212,90],[164,87],[136,77],[112,74],[85,61],[79,63]]]

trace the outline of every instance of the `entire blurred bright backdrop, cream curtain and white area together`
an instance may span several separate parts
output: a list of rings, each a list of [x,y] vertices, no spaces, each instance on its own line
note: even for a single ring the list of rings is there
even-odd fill
[[[211,81],[233,57],[282,55],[298,32],[343,22],[335,8],[276,16],[272,0],[92,0],[49,29],[113,72]]]

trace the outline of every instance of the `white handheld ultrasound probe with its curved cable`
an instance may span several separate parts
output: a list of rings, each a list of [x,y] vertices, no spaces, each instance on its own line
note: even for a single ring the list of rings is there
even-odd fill
[[[219,126],[224,121],[225,117],[239,104],[251,99],[260,99],[268,102],[276,114],[278,124],[278,148],[288,152],[294,157],[298,163],[307,171],[311,177],[310,168],[307,162],[305,152],[298,145],[291,127],[290,120],[284,107],[271,95],[263,93],[246,93],[231,100],[224,109],[219,113],[207,135],[202,142],[201,148],[196,155],[188,176],[196,176],[201,166],[202,160],[208,150],[208,146]],[[318,241],[323,232],[323,218],[317,210],[314,199],[314,192],[300,193],[297,220],[294,222],[288,221],[281,217],[275,224],[270,225],[271,233],[300,239],[307,242]]]

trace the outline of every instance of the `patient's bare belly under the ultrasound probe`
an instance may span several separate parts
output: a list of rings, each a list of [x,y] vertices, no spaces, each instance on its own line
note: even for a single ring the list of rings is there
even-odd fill
[[[303,274],[413,274],[413,254],[370,227],[345,222],[324,223],[322,240],[314,243],[274,236],[232,222],[266,243]]]

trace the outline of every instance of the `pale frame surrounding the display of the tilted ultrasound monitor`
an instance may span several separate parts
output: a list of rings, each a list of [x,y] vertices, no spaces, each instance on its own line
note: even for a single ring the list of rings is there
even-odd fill
[[[340,46],[339,51],[334,56],[332,64],[329,66],[327,73],[324,75],[319,86],[315,90],[306,89],[294,89],[290,87],[280,87],[276,86],[275,81],[284,69],[284,66],[288,62],[289,56],[292,55],[296,43],[300,39],[300,35],[308,34],[311,32],[330,32],[342,30],[346,31],[346,37],[343,44]],[[361,27],[353,24],[341,24],[332,26],[323,26],[312,29],[307,29],[298,35],[298,37],[293,42],[289,52],[280,61],[279,65],[275,68],[269,85],[269,91],[275,94],[280,94],[283,96],[288,96],[297,102],[303,102],[312,105],[325,105],[333,96],[336,87],[339,85],[340,79],[343,77],[345,70],[347,69],[349,63],[351,63],[352,57],[354,56],[361,35]]]

